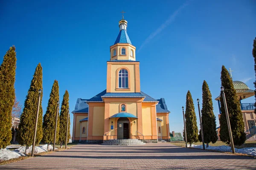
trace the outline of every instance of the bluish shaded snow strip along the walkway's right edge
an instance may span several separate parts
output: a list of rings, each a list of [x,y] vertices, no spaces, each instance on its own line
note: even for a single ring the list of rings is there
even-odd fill
[[[188,145],[189,147],[189,145]],[[195,145],[192,144],[191,147],[193,148],[198,148],[198,149],[203,149],[203,145]],[[206,150],[217,150],[217,151],[221,151],[221,152],[232,152],[231,147],[230,146],[210,146],[206,147],[205,145],[205,149]],[[256,156],[256,147],[244,147],[241,149],[237,149],[235,148],[236,153],[243,153],[243,154],[247,154],[247,155],[252,155],[252,156]]]

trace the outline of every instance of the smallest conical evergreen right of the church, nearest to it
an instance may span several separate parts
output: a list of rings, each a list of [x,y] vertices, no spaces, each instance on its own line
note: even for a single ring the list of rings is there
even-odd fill
[[[195,107],[190,91],[188,91],[186,95],[185,118],[187,142],[191,146],[192,142],[198,142],[198,127],[196,123]]]

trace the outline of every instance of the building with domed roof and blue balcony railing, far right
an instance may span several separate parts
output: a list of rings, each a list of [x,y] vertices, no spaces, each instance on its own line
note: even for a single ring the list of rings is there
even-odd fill
[[[256,134],[256,114],[254,113],[255,103],[242,103],[242,100],[254,96],[254,91],[251,90],[244,82],[233,81],[233,85],[236,90],[237,99],[240,101],[241,105],[241,111],[244,118],[244,131],[247,138],[250,138]],[[220,96],[215,100],[218,101],[219,113],[221,114]]]

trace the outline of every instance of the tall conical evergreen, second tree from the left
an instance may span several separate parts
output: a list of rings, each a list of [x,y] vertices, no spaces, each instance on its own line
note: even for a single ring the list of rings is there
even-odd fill
[[[23,112],[20,116],[20,124],[18,131],[18,139],[20,144],[26,145],[26,151],[29,146],[33,143],[34,138],[34,130],[35,130],[35,118],[38,107],[38,95],[39,89],[43,90],[43,71],[41,63],[37,65],[35,68],[35,73],[30,83],[29,91],[26,96],[26,100],[24,103]],[[38,125],[36,131],[36,144],[38,144],[43,138],[43,108],[42,108],[42,97],[43,93],[41,93],[41,100],[39,105],[39,113],[38,113]]]

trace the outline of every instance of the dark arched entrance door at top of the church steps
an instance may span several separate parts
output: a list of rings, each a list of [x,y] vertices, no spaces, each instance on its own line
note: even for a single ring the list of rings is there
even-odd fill
[[[127,117],[117,120],[117,139],[129,139],[130,121]]]

